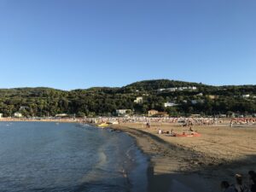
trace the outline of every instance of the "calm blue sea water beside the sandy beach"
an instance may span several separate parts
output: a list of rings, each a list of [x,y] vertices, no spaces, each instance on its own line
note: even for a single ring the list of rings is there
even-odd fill
[[[147,157],[122,132],[0,122],[0,191],[147,191]]]

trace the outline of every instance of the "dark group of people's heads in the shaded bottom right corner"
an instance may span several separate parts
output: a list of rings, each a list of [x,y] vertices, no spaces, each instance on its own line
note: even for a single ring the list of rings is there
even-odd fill
[[[223,192],[256,192],[256,173],[248,172],[248,181],[244,181],[241,174],[236,174],[236,183],[230,184],[228,181],[222,181],[220,188]]]

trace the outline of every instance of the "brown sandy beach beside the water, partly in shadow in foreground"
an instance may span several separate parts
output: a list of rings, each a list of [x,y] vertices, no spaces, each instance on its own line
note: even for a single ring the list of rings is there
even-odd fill
[[[148,191],[213,192],[219,183],[235,183],[234,175],[256,169],[256,127],[234,127],[228,124],[195,126],[201,137],[168,137],[163,131],[182,133],[180,125],[141,123],[113,125],[137,139],[150,157]]]

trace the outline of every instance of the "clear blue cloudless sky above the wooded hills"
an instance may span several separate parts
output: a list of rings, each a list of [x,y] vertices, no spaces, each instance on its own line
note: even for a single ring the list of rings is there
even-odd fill
[[[0,0],[0,88],[256,84],[255,0]]]

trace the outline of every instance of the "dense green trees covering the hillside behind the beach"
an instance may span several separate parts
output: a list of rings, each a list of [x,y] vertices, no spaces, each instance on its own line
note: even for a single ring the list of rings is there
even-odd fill
[[[159,89],[196,86],[197,90],[158,91]],[[244,98],[242,95],[249,94]],[[135,103],[143,96],[143,103]],[[0,90],[0,113],[12,116],[20,112],[26,117],[55,116],[75,113],[77,116],[114,115],[116,109],[132,109],[147,113],[149,109],[171,115],[201,113],[256,113],[256,85],[209,86],[167,79],[148,80],[121,88],[94,87],[87,90],[55,90],[50,88],[17,88]],[[175,107],[164,107],[175,102]]]

